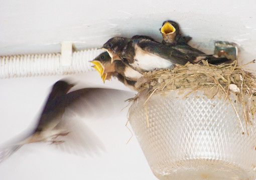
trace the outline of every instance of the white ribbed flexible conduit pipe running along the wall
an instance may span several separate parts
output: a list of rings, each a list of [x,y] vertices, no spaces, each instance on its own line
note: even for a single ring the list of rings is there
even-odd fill
[[[60,53],[0,56],[0,78],[82,73],[94,70],[90,60],[101,49],[75,51],[71,65],[61,65]]]

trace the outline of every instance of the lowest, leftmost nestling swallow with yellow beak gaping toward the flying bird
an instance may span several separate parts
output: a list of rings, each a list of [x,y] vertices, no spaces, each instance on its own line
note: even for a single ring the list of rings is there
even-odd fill
[[[127,62],[115,60],[111,63],[111,57],[107,51],[99,54],[91,62],[94,64],[93,67],[101,75],[103,81],[109,79],[111,76],[117,77],[116,73],[123,76],[126,81],[136,81],[142,77],[142,73],[133,69]]]

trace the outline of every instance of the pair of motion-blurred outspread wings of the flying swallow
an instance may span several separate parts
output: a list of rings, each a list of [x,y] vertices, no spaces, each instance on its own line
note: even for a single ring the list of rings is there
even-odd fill
[[[118,115],[125,107],[124,100],[133,96],[134,93],[130,91],[108,88],[82,88],[69,92],[62,120],[56,126],[56,129],[65,129],[68,134],[54,139],[64,141],[57,143],[57,147],[79,155],[94,154],[104,149],[86,122]]]

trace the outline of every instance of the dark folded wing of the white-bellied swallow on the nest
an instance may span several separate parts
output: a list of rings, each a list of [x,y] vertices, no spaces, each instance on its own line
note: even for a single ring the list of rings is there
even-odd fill
[[[135,43],[137,43],[135,41]],[[185,64],[191,61],[187,54],[179,50],[168,47],[160,42],[152,41],[149,39],[139,40],[137,45],[142,48],[146,53],[153,53],[164,59],[168,59],[173,63]]]

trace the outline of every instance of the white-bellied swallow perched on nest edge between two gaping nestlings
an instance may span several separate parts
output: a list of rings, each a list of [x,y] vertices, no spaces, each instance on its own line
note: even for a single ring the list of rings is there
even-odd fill
[[[157,42],[149,36],[135,35],[128,42],[127,40],[122,42],[121,46],[123,48],[118,47],[120,44],[119,39],[120,37],[112,37],[107,41],[107,43],[112,44],[111,48],[118,49],[115,51],[116,54],[112,55],[110,53],[113,53],[113,51],[108,50],[110,56],[116,57],[112,58],[112,61],[121,59],[139,72],[156,68],[169,68],[176,63],[185,64],[188,61],[193,62],[187,54]],[[118,41],[118,44],[115,43],[116,41]]]

